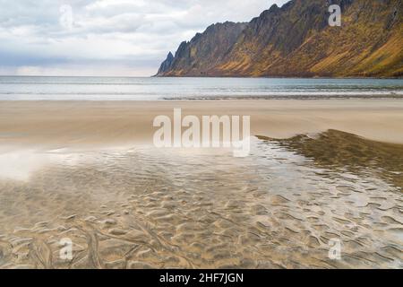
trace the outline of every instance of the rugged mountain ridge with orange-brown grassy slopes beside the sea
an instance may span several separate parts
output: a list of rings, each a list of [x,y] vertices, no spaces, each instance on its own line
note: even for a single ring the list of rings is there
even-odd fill
[[[330,27],[329,6],[341,7]],[[211,25],[158,76],[402,77],[402,0],[293,0],[248,23]]]

